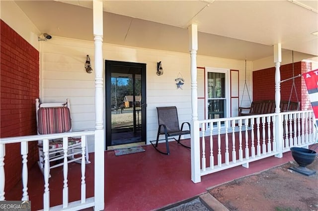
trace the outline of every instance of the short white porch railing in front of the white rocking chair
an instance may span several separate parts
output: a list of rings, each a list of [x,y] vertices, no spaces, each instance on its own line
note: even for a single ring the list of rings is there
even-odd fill
[[[43,141],[44,152],[44,193],[43,193],[43,210],[81,210],[95,206],[95,197],[86,198],[86,183],[85,183],[85,148],[86,137],[88,135],[94,135],[95,131],[76,131],[68,133],[47,134],[47,135],[32,135],[32,136],[20,136],[0,139],[0,201],[5,200],[4,195],[4,164],[5,164],[5,145],[11,143],[21,143],[21,156],[22,156],[22,197],[21,201],[29,200],[28,196],[28,168],[27,168],[27,156],[28,156],[28,142],[38,140]],[[81,187],[81,199],[76,202],[69,202],[69,190],[68,190],[68,137],[81,137],[81,174],[80,184]],[[55,207],[50,207],[50,189],[49,189],[49,139],[63,138],[63,149],[66,153],[64,155],[63,172],[63,204]],[[95,172],[96,174],[96,172]],[[98,181],[94,181],[95,183]]]

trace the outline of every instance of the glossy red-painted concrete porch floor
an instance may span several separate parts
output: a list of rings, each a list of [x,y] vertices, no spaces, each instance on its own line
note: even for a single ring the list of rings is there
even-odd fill
[[[189,143],[189,140],[186,140]],[[293,160],[290,153],[283,158],[265,158],[191,181],[190,149],[170,142],[170,155],[159,154],[151,145],[146,152],[115,156],[105,152],[105,210],[150,211],[205,193],[210,187],[253,174]],[[94,156],[86,165],[86,197],[94,193]],[[51,169],[50,206],[62,204],[63,168]],[[69,201],[80,199],[80,165],[69,164]],[[28,193],[32,210],[43,209],[44,181],[37,165],[29,170]],[[6,200],[21,200],[21,183],[5,193]],[[92,210],[92,209],[91,209]]]

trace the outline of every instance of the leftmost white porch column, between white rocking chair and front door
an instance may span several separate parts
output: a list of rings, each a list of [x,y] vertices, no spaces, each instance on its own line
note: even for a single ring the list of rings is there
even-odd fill
[[[104,95],[103,95],[103,2],[93,0],[93,34],[95,45],[95,211],[104,210]],[[87,146],[86,146],[87,147]]]

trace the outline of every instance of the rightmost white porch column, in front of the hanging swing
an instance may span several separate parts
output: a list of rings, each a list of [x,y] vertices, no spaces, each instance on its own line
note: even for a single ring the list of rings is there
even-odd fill
[[[282,62],[282,45],[280,43],[274,45],[274,63],[275,63],[275,113],[280,113],[280,63]],[[276,150],[280,154],[276,155],[277,158],[283,157],[283,122],[282,116],[279,114],[276,117]]]

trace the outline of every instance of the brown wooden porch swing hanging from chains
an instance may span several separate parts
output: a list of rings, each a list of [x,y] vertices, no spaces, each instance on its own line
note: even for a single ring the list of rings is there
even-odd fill
[[[282,82],[285,82],[285,81],[293,79],[293,84],[292,84],[289,100],[280,102],[280,110],[283,111],[283,112],[292,111],[292,110],[299,110],[299,107],[300,107],[300,102],[299,102],[299,99],[298,99],[298,94],[297,94],[297,90],[296,90],[296,86],[295,86],[295,78],[300,77],[301,74],[295,76],[294,51],[292,51],[292,64],[293,64],[293,77],[280,81],[280,83],[282,83]],[[245,59],[245,84],[244,84],[244,89],[243,89],[243,94],[242,94],[242,99],[241,99],[241,105],[242,105],[243,98],[244,98],[245,88],[247,90],[248,98],[249,98],[249,101],[250,101],[250,96],[249,96],[249,92],[248,92],[247,85],[246,85],[246,59]],[[292,102],[291,101],[291,98],[292,98],[294,90],[295,90],[297,102]],[[242,107],[241,105],[239,106],[239,116],[274,113],[275,112],[275,106],[276,106],[274,100],[253,101],[253,102],[251,102],[251,106],[250,107]],[[249,110],[249,112],[248,113],[243,113],[242,112],[243,110]]]

